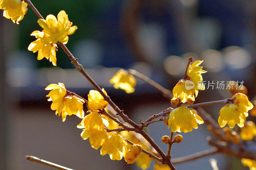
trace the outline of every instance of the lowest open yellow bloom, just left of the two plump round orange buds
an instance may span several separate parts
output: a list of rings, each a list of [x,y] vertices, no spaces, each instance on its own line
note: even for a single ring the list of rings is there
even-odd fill
[[[101,155],[109,154],[112,160],[121,160],[127,152],[127,141],[116,132],[108,133],[108,140],[100,149]]]

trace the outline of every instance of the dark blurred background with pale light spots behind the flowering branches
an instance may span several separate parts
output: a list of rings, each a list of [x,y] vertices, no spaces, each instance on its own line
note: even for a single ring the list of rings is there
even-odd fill
[[[184,75],[188,57],[201,64],[205,81],[244,81],[249,100],[255,88],[256,1],[251,0],[33,0],[45,18],[65,10],[78,29],[69,36],[67,47],[87,73],[106,89],[111,99],[136,123],[171,107],[170,101],[137,79],[135,92],[114,89],[108,80],[120,68],[132,68],[171,89]],[[20,24],[0,17],[0,169],[52,169],[29,162],[33,155],[72,169],[139,169],[124,160],[101,156],[88,140],[80,137],[80,119],[68,116],[65,122],[50,109],[44,88],[62,82],[69,91],[87,98],[92,85],[75,70],[59,48],[57,67],[37,52],[28,51],[30,34],[41,31],[37,17],[28,7]],[[206,84],[206,88],[208,85]],[[209,87],[200,91],[195,103],[231,97],[228,90]],[[212,89],[213,88],[213,89]],[[216,120],[222,105],[204,109]],[[255,122],[255,118],[247,120]],[[206,125],[182,133],[183,142],[174,144],[172,158],[211,148]],[[160,130],[161,129],[161,130]],[[155,142],[167,151],[161,137],[170,134],[163,122],[148,127]],[[247,169],[239,159],[214,155],[175,165],[177,169],[212,169],[209,159],[220,169]],[[149,169],[153,169],[153,163]]]

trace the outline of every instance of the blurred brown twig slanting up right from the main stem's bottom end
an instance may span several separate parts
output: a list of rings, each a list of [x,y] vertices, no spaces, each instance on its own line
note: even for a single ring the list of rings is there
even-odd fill
[[[193,153],[191,155],[187,155],[187,156],[184,156],[184,157],[172,158],[172,163],[173,164],[179,164],[179,163],[183,163],[183,162],[188,162],[188,161],[191,161],[191,160],[196,160],[196,159],[199,159],[199,158],[203,158],[205,156],[213,155],[213,154],[216,154],[218,152],[219,152],[218,148],[214,147],[214,148],[207,149],[207,150],[204,150],[202,152]]]

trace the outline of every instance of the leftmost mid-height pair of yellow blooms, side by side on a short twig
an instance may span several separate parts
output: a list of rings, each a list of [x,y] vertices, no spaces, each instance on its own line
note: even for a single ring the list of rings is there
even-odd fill
[[[48,101],[52,101],[51,109],[56,110],[56,115],[61,115],[63,122],[66,120],[67,115],[76,115],[79,118],[84,117],[84,100],[76,96],[66,96],[66,89],[63,83],[59,83],[59,85],[50,84],[45,90],[51,90],[46,97],[50,97]]]

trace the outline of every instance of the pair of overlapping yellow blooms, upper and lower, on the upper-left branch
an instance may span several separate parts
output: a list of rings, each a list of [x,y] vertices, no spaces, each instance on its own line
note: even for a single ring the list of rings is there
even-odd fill
[[[58,19],[57,19],[58,18]],[[77,26],[72,26],[72,22],[68,20],[68,15],[65,11],[60,11],[57,18],[50,14],[46,19],[38,19],[38,24],[43,28],[43,31],[34,31],[32,34],[37,40],[29,44],[28,50],[35,53],[38,51],[37,60],[44,57],[56,66],[56,43],[68,43],[68,35],[75,33]]]

